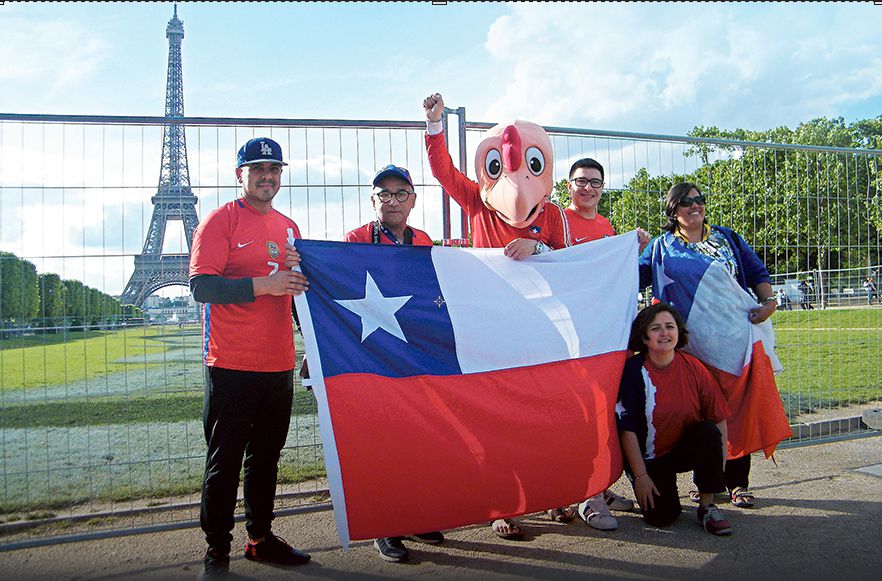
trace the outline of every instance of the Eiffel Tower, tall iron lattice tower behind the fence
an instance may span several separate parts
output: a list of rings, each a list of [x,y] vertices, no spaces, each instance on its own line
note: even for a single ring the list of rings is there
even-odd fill
[[[165,29],[168,38],[168,82],[165,90],[166,118],[184,116],[184,77],[181,72],[181,41],[184,23],[178,19],[178,5]],[[187,168],[187,140],[184,126],[167,124],[162,132],[162,168],[153,202],[153,217],[141,254],[135,256],[135,271],[120,295],[122,304],[141,306],[157,290],[171,285],[189,284],[190,247],[199,224],[196,196],[190,189]],[[181,220],[187,237],[187,254],[163,254],[165,227],[169,220]]]

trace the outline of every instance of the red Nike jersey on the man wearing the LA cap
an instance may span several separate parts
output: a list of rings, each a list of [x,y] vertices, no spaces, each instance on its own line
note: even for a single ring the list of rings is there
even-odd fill
[[[190,277],[268,276],[285,267],[289,228],[300,238],[297,224],[276,210],[261,214],[242,200],[224,204],[193,233]],[[262,295],[251,303],[206,303],[202,333],[206,365],[240,371],[294,369],[290,295]]]

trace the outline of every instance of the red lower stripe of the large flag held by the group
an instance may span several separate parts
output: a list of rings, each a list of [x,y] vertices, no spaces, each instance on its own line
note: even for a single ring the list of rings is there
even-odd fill
[[[622,472],[625,353],[454,376],[325,379],[352,539],[583,500]]]

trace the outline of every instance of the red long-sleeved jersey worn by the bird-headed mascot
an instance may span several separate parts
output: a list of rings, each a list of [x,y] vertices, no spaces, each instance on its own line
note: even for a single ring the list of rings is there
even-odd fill
[[[516,238],[538,240],[554,249],[572,244],[566,216],[557,204],[547,202],[530,226],[514,228],[484,205],[481,186],[453,167],[443,133],[426,134],[426,152],[432,175],[469,215],[475,248],[503,248]]]

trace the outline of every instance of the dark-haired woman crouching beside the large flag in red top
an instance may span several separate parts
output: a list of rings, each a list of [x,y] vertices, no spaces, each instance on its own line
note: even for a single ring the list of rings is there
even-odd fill
[[[677,474],[691,470],[700,493],[698,524],[727,535],[732,527],[713,500],[726,490],[729,407],[704,365],[680,350],[686,342],[683,319],[666,303],[634,319],[628,347],[638,353],[625,363],[616,404],[625,471],[643,518],[663,527],[683,510]]]

